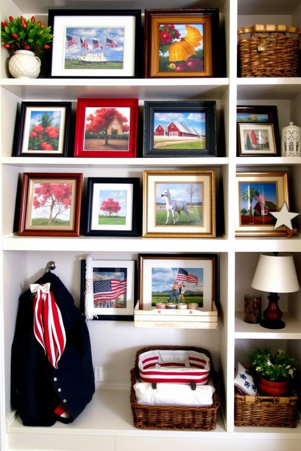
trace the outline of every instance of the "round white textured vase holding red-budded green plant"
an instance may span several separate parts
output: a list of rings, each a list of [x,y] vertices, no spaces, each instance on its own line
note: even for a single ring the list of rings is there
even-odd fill
[[[16,50],[9,59],[9,73],[14,78],[37,78],[41,60],[30,50]]]

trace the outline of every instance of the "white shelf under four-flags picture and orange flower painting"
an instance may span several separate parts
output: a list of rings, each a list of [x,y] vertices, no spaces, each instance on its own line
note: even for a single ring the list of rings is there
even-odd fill
[[[78,97],[139,97],[140,100],[220,99],[229,85],[228,78],[1,78],[0,85],[27,101],[76,101]],[[168,89],[167,89],[168,88]]]

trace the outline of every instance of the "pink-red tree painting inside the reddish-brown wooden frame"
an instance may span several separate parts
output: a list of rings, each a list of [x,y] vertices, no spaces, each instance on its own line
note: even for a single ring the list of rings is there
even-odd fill
[[[32,204],[37,213],[32,217],[32,225],[69,226],[71,194],[71,183],[35,184]],[[59,219],[59,215],[63,218]]]

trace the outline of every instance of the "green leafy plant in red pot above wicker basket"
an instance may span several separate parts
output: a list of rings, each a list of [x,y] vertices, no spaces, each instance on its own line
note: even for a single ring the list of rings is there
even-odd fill
[[[259,375],[258,390],[261,395],[283,396],[290,389],[290,380],[296,371],[296,360],[284,350],[272,355],[270,348],[252,350],[250,368]]]

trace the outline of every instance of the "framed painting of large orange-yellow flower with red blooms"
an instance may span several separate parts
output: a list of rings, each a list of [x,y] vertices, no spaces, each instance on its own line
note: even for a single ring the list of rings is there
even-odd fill
[[[145,74],[219,77],[218,9],[145,9]]]

